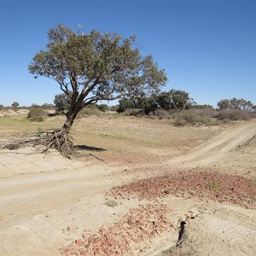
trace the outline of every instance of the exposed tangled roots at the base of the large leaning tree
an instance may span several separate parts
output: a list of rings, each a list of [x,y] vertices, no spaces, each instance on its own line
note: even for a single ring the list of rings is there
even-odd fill
[[[46,152],[49,148],[55,148],[66,158],[70,158],[73,150],[71,137],[64,129],[46,129],[37,133],[15,137],[5,144],[3,148],[11,150],[29,145],[43,145],[45,147],[43,152]]]

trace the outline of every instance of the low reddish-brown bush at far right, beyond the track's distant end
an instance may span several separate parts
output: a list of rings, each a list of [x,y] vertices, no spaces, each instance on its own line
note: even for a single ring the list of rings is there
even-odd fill
[[[216,116],[220,120],[247,120],[250,119],[249,113],[240,109],[222,109]]]

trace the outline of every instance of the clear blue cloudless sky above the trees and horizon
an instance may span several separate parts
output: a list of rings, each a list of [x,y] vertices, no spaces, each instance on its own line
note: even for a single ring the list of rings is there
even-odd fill
[[[53,103],[61,93],[27,69],[58,23],[136,34],[166,70],[163,90],[213,107],[231,97],[256,104],[256,0],[0,0],[0,104]]]

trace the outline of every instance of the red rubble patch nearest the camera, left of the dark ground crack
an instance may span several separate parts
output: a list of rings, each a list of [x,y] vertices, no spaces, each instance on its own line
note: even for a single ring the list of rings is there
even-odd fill
[[[97,235],[83,235],[73,244],[61,249],[63,255],[124,255],[131,253],[132,245],[170,230],[166,218],[171,210],[159,203],[132,208],[108,230],[102,227]]]

